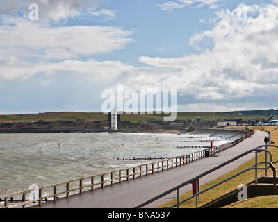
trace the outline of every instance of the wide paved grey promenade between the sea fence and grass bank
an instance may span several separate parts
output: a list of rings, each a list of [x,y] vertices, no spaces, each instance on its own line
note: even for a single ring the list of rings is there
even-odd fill
[[[243,142],[240,142],[225,151],[222,151],[219,156],[203,158],[181,167],[174,167],[173,169],[161,171],[152,175],[149,174],[149,176],[129,180],[128,182],[121,182],[120,184],[107,186],[104,187],[104,189],[86,191],[83,192],[82,195],[76,194],[70,196],[70,198],[60,198],[56,201],[56,203],[43,203],[40,208],[136,207],[137,205],[144,203],[146,200],[149,200],[150,198],[157,196],[158,194],[161,194],[164,191],[185,182],[186,180],[190,180],[191,178],[204,173],[208,169],[230,160],[232,157],[236,157],[240,153],[262,145],[265,135],[265,132],[256,131],[252,137],[245,139]],[[240,164],[243,164],[247,160],[250,160],[252,157],[254,157],[254,153],[250,153],[249,155],[246,155],[245,157],[242,157],[239,160],[236,160],[235,162],[210,173],[208,176],[200,179],[200,185],[236,169],[236,167],[240,166]],[[190,189],[191,186],[188,185],[181,189],[179,193],[181,194],[182,192]],[[161,198],[161,200],[157,200],[155,203],[147,205],[147,207],[157,207],[174,197],[175,194],[169,194],[169,196]]]

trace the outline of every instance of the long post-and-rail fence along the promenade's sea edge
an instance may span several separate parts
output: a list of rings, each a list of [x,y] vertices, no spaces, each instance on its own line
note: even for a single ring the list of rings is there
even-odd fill
[[[220,146],[213,146],[209,149],[209,155],[214,155],[215,153],[219,153],[226,148],[234,146],[249,136],[250,135],[245,135],[239,139],[236,139],[234,142],[229,142]],[[69,180],[67,182],[60,182],[54,185],[38,187],[38,189],[35,190],[28,189],[25,191],[15,192],[13,194],[5,194],[0,196],[0,204],[3,203],[3,206],[0,208],[20,206],[25,208],[31,205],[40,206],[42,205],[42,202],[49,200],[56,202],[58,198],[70,198],[71,194],[82,194],[83,191],[93,191],[96,188],[104,188],[107,185],[112,186],[117,182],[120,183],[124,180],[147,176],[149,173],[164,171],[165,169],[172,169],[173,167],[182,166],[204,157],[206,157],[205,149],[178,157],[170,157],[156,162],[140,164],[136,167],[120,169],[108,173],[101,173],[75,180]]]

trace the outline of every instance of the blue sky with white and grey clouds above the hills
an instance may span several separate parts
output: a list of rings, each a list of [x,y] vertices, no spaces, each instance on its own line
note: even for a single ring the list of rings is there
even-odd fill
[[[278,0],[0,0],[0,114],[101,112],[118,84],[175,89],[177,111],[276,109],[277,40]]]

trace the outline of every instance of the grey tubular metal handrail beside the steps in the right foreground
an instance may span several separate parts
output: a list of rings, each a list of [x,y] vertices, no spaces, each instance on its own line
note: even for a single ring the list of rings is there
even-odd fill
[[[156,201],[160,198],[163,198],[167,194],[171,194],[174,191],[177,192],[177,203],[175,205],[172,205],[169,208],[179,207],[179,205],[181,205],[182,203],[185,203],[187,200],[190,200],[191,198],[196,198],[196,208],[197,208],[198,207],[198,202],[199,202],[197,200],[197,198],[199,197],[200,194],[203,194],[204,192],[206,192],[206,191],[208,191],[208,190],[210,190],[214,187],[217,187],[218,185],[221,185],[222,183],[227,182],[228,180],[231,180],[232,178],[235,178],[236,176],[239,176],[240,174],[245,173],[246,171],[250,171],[250,170],[254,169],[254,171],[255,171],[255,183],[258,182],[258,170],[264,169],[265,170],[265,176],[267,176],[267,169],[271,168],[272,171],[273,171],[273,176],[276,176],[276,170],[275,170],[275,167],[273,166],[273,163],[277,163],[278,161],[272,162],[272,154],[267,149],[270,146],[278,148],[278,146],[275,146],[275,145],[267,145],[267,146],[262,145],[262,146],[258,146],[256,148],[253,148],[250,151],[246,151],[245,153],[242,153],[242,154],[232,158],[231,160],[228,160],[227,162],[224,162],[224,163],[218,165],[217,167],[214,167],[213,169],[210,169],[210,170],[208,170],[204,173],[201,173],[199,176],[196,176],[195,178],[187,180],[186,182],[183,182],[180,185],[177,185],[176,187],[173,187],[172,189],[169,189],[169,190],[163,192],[163,194],[160,194],[160,195],[155,196],[154,198],[152,198],[150,200],[147,200],[145,203],[142,203],[142,204],[138,205],[136,208],[145,207],[146,205],[149,205],[150,203],[153,203],[154,201]],[[261,149],[263,147],[265,147],[265,149]],[[221,167],[224,167],[227,164],[229,164],[231,162],[234,162],[235,160],[238,160],[240,157],[243,157],[243,156],[245,156],[249,153],[252,153],[252,152],[255,152],[255,164],[252,167],[249,167],[249,168],[247,168],[243,171],[240,171],[239,173],[236,173],[234,176],[231,176],[231,177],[229,177],[225,180],[222,180],[221,182],[218,182],[215,185],[213,185],[211,187],[208,187],[207,189],[204,189],[203,191],[199,191],[199,189],[198,189],[199,188],[199,184],[198,184],[199,183],[199,178],[202,178],[202,177],[208,175],[209,173],[212,173],[213,171],[216,171],[217,169],[220,169]],[[258,162],[258,153],[261,153],[261,152],[265,152],[265,161],[264,162]],[[267,160],[267,154],[270,155],[270,161]],[[258,167],[260,164],[265,164],[265,167]],[[190,183],[193,183],[193,182],[195,182],[195,185],[196,185],[196,187],[195,187],[196,194],[190,196],[189,198],[186,198],[185,200],[179,201],[179,189],[181,189],[181,187],[184,187],[184,186],[186,186]],[[274,190],[276,191],[276,182],[274,182]]]

